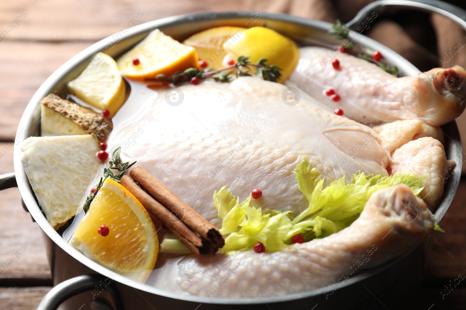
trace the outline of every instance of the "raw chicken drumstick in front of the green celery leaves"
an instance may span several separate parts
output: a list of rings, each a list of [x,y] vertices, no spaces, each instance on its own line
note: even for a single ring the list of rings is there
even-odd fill
[[[425,203],[400,184],[376,191],[353,224],[329,237],[272,253],[185,257],[174,267],[173,285],[211,298],[276,297],[317,289],[397,257],[433,228]]]

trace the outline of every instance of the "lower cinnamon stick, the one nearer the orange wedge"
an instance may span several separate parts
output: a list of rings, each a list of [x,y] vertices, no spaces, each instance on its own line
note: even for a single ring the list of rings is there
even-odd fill
[[[183,244],[186,245],[186,247],[188,247],[194,254],[199,255],[201,252],[200,249],[203,246],[205,247],[205,245],[194,231],[192,231],[182,221],[173,220],[171,212],[137,186],[132,178],[126,175],[121,179],[120,184],[130,191],[131,194],[141,202],[144,208],[158,218],[160,222],[162,222]]]

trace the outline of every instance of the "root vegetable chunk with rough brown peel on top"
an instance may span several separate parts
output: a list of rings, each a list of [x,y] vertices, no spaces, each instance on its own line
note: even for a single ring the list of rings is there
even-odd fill
[[[92,134],[106,141],[113,129],[110,119],[54,94],[41,100],[41,110],[42,137]]]

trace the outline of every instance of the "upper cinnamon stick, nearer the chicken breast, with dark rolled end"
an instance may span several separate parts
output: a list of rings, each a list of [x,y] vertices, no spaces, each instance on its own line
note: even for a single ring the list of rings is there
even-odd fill
[[[219,229],[201,217],[181,198],[170,191],[157,178],[142,167],[133,167],[130,177],[143,186],[157,201],[183,221],[186,226],[196,232],[213,252],[225,245],[225,239]]]

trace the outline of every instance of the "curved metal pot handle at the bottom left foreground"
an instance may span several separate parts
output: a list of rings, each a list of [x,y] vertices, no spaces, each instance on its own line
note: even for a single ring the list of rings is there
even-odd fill
[[[77,276],[55,285],[44,298],[42,298],[37,310],[56,310],[58,306],[68,298],[87,290],[95,290],[97,285],[102,284],[102,281],[104,281],[103,283],[105,285],[103,289],[107,290],[113,299],[115,310],[122,310],[117,290],[115,290],[111,283],[105,284],[105,279],[100,275]],[[92,309],[112,309],[108,304],[105,307],[103,306],[105,303],[97,301],[98,299],[91,303]]]

